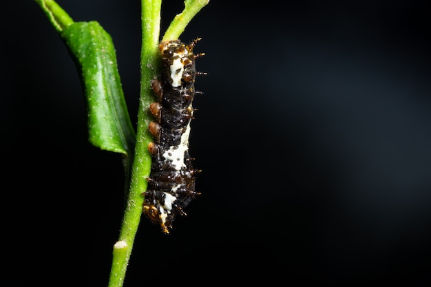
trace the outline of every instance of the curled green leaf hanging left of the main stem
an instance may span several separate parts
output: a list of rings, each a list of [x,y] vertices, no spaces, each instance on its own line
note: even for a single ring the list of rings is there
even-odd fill
[[[111,36],[96,21],[74,22],[61,37],[81,72],[90,142],[129,155],[135,133],[125,103]]]

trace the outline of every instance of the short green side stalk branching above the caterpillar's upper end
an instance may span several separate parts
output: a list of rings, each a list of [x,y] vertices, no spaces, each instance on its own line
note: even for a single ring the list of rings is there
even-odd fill
[[[209,3],[209,0],[186,0],[184,1],[185,8],[180,14],[177,14],[171,25],[167,28],[165,35],[163,35],[162,41],[165,40],[176,40],[182,32],[184,32],[186,26],[189,24],[191,19],[195,17],[198,12]]]

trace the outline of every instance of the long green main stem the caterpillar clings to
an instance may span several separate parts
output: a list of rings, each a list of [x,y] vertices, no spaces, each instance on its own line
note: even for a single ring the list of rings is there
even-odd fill
[[[114,245],[109,287],[123,286],[127,264],[132,254],[134,238],[143,210],[144,197],[142,193],[147,189],[147,178],[151,170],[151,155],[148,151],[148,144],[153,139],[148,131],[151,120],[148,106],[155,100],[150,83],[157,73],[156,67],[158,66],[161,0],[142,0],[141,5],[143,41],[140,56],[141,79],[136,149],[123,224],[118,242]]]

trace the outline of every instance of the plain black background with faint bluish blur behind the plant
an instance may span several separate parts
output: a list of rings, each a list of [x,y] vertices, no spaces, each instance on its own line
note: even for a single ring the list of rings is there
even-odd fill
[[[59,0],[112,35],[136,123],[140,1]],[[6,5],[6,7],[5,7]],[[165,1],[162,32],[183,7]],[[429,286],[431,12],[419,1],[216,1],[202,41],[194,201],[143,218],[126,286]],[[76,67],[33,1],[1,8],[0,286],[107,286],[120,156],[87,142]],[[5,267],[6,266],[6,267]]]

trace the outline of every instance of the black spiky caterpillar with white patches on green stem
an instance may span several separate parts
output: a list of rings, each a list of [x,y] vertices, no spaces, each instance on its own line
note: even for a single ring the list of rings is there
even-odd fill
[[[160,79],[151,87],[158,102],[149,105],[156,121],[149,124],[154,142],[148,145],[151,153],[151,173],[148,178],[143,211],[149,219],[169,233],[176,215],[185,215],[185,207],[200,193],[195,191],[195,175],[189,156],[190,123],[193,118],[193,98],[196,72],[194,45],[179,40],[162,41]]]

